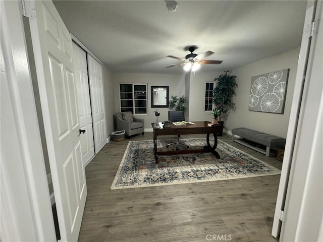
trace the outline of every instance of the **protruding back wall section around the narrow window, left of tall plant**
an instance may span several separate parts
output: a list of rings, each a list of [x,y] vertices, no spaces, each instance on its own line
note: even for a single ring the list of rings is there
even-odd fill
[[[211,111],[204,111],[205,104],[205,83],[213,82],[221,72],[196,72],[192,73],[190,80],[190,121],[211,121]]]

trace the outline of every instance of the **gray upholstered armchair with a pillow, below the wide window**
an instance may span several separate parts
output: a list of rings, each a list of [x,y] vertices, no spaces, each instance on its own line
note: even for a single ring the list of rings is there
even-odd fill
[[[124,120],[123,112],[116,112],[116,123],[118,130],[125,130],[126,136],[132,136],[139,133],[144,134],[144,120],[141,118],[137,118],[132,116],[133,122]]]

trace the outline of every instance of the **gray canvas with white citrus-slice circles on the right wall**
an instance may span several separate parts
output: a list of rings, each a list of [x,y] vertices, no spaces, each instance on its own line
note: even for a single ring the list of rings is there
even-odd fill
[[[284,113],[289,69],[251,78],[249,111]]]

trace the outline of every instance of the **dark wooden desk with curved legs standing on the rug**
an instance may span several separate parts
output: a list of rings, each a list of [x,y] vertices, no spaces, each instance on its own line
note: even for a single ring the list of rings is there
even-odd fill
[[[208,126],[209,122],[207,121],[198,121],[193,122],[195,125],[174,125],[171,124],[170,128],[163,128],[161,126],[159,129],[154,128],[155,123],[151,123],[153,128],[153,150],[155,155],[156,163],[158,163],[158,155],[175,155],[175,154],[188,154],[188,153],[202,153],[202,152],[211,152],[217,159],[220,159],[219,153],[216,151],[218,145],[217,135],[221,133],[222,126]],[[203,149],[198,150],[174,150],[174,151],[157,151],[157,136],[158,135],[194,135],[194,134],[206,134],[206,143],[207,145]],[[214,136],[214,145],[211,146],[209,143],[209,136],[213,134]]]

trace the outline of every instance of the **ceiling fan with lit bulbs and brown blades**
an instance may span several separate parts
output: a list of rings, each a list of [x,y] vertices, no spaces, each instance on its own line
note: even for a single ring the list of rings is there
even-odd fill
[[[170,67],[181,67],[184,66],[184,70],[188,71],[190,68],[192,68],[192,71],[196,71],[201,64],[221,64],[222,61],[212,61],[208,59],[202,59],[210,56],[211,54],[214,54],[212,51],[206,51],[201,54],[195,54],[193,53],[194,50],[196,49],[195,46],[191,46],[188,48],[188,50],[191,52],[190,54],[185,56],[184,58],[176,57],[173,55],[167,55],[168,57],[174,58],[174,59],[179,59],[180,61],[183,61],[183,63],[177,64],[177,65],[170,65],[166,68]]]

